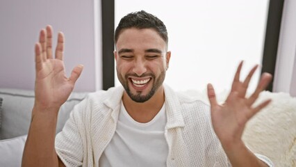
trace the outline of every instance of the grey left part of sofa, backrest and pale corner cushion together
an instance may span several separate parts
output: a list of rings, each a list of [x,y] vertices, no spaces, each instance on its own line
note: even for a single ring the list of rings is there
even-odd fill
[[[75,104],[87,93],[72,93],[58,113],[56,132],[60,132]],[[34,104],[33,90],[0,88],[0,166],[21,166],[26,134]]]

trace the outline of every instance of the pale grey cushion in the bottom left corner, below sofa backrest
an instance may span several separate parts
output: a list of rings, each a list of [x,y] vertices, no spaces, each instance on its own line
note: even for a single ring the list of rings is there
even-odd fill
[[[26,135],[0,141],[0,166],[22,166]]]

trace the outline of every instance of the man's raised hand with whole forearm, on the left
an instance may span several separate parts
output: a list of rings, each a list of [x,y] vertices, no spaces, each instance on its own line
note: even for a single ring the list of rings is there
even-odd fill
[[[63,62],[64,36],[58,33],[55,58],[52,54],[52,28],[40,31],[35,45],[35,104],[28,137],[24,146],[22,166],[65,166],[54,146],[60,106],[71,94],[83,65],[77,65],[69,78]]]

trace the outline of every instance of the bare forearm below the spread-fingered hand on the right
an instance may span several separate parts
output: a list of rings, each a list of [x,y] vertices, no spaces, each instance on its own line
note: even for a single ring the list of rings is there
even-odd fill
[[[224,151],[229,158],[231,166],[258,166],[258,167],[268,167],[263,161],[258,159],[254,153],[252,153],[245,144],[240,141],[238,143],[226,143],[222,144]]]

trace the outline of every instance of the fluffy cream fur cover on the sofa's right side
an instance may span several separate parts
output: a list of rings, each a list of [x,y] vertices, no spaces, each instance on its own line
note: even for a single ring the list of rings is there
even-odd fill
[[[185,93],[209,104],[206,90]],[[217,93],[217,102],[224,102],[227,95],[227,90]],[[249,120],[242,140],[253,152],[270,158],[274,166],[296,167],[296,97],[263,91],[256,104],[268,99],[272,102]]]

